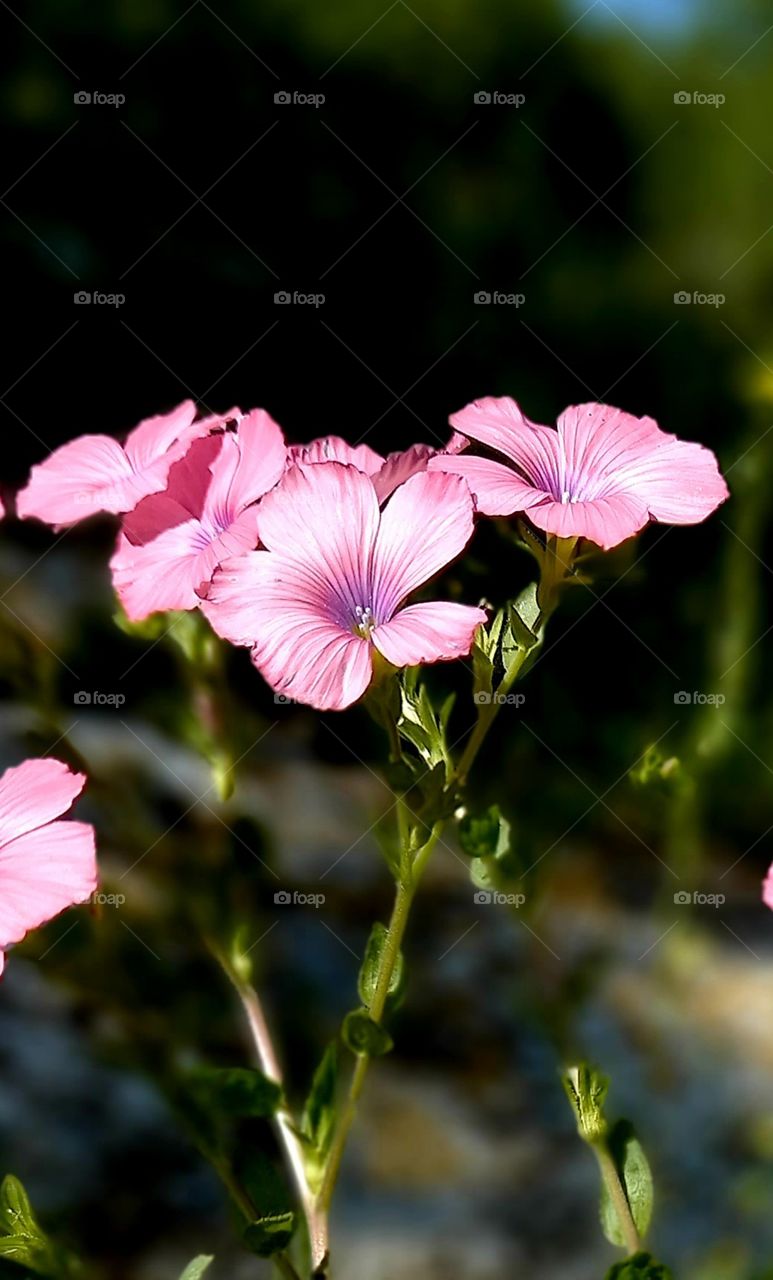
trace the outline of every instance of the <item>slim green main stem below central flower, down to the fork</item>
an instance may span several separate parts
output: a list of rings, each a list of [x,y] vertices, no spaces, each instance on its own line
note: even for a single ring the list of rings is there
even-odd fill
[[[392,978],[394,974],[395,965],[398,963],[401,946],[406,933],[406,927],[408,924],[408,916],[411,914],[411,906],[413,904],[413,897],[416,896],[416,890],[418,888],[418,882],[427,864],[429,856],[435,847],[438,840],[440,838],[440,832],[443,829],[443,823],[438,822],[433,827],[431,835],[425,845],[416,854],[410,876],[401,881],[397,886],[397,893],[394,899],[394,906],[392,909],[392,918],[386,928],[386,938],[384,941],[384,947],[381,950],[381,959],[379,965],[379,974],[376,978],[376,984],[372,995],[372,1000],[369,1006],[369,1015],[375,1023],[380,1023],[384,1016],[384,1009],[386,1006],[386,997],[389,995],[389,987],[392,984]],[[328,1164],[325,1166],[325,1172],[320,1185],[320,1190],[316,1199],[317,1212],[326,1215],[333,1201],[333,1193],[335,1190],[335,1184],[338,1181],[338,1174],[340,1170],[340,1162],[343,1160],[343,1153],[346,1149],[347,1139],[349,1137],[351,1128],[355,1123],[355,1116],[357,1114],[357,1103],[360,1096],[365,1087],[365,1080],[367,1078],[367,1070],[370,1066],[370,1059],[367,1055],[362,1055],[357,1059],[355,1070],[352,1073],[352,1079],[349,1083],[349,1092],[338,1121],[335,1130],[335,1137],[333,1139],[333,1146],[330,1147],[330,1155],[328,1156]]]

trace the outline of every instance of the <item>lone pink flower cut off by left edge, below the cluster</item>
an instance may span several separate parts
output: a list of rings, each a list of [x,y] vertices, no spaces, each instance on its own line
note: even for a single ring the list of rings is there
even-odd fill
[[[0,973],[5,947],[97,886],[93,827],[55,822],[83,790],[60,760],[26,760],[0,777]]]

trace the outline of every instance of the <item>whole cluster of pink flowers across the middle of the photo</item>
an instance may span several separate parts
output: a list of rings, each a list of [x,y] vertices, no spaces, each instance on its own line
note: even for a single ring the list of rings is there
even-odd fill
[[[186,401],[123,448],[65,444],[17,508],[55,527],[120,515],[111,571],[131,620],[201,608],[275,691],[342,709],[367,690],[376,653],[394,667],[470,653],[482,609],[407,600],[463,552],[476,513],[608,549],[650,520],[704,520],[727,497],[709,449],[604,404],[566,410],[554,430],[486,398],[450,425],[443,449],[384,458],[339,436],[287,445],[265,410],[197,421]]]

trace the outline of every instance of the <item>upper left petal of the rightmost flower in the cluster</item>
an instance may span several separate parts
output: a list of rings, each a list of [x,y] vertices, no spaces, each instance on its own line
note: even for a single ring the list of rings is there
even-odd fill
[[[462,435],[504,453],[538,489],[559,493],[558,433],[531,422],[509,396],[474,401],[448,421]]]

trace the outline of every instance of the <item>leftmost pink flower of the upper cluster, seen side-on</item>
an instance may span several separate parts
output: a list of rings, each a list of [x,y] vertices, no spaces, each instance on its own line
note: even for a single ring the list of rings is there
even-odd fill
[[[232,410],[233,417],[238,410]],[[147,417],[120,445],[110,435],[81,435],[32,467],[27,486],[17,497],[22,520],[36,517],[65,527],[97,511],[132,511],[141,498],[160,493],[173,462],[191,440],[225,421],[206,417],[195,422],[193,401],[183,401],[170,413]]]

